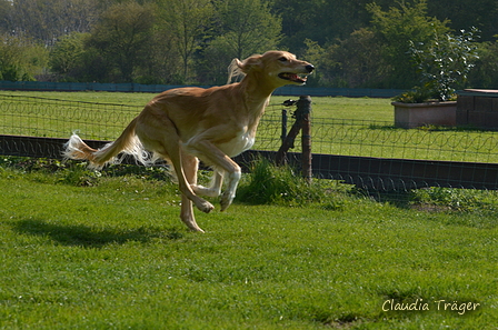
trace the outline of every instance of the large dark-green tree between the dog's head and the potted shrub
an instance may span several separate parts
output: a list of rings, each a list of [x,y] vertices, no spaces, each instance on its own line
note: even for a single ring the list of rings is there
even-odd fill
[[[428,43],[434,33],[449,29],[427,16],[425,0],[398,2],[384,10],[367,6],[371,27],[361,28],[346,39],[326,43],[307,42],[307,53],[318,59],[320,84],[332,87],[411,88],[419,81],[409,54],[410,42]]]

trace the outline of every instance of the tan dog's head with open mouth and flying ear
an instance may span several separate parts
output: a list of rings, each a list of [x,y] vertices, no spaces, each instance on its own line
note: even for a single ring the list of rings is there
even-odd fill
[[[306,61],[300,61],[295,54],[287,51],[268,51],[256,54],[243,61],[235,59],[230,64],[230,79],[237,73],[262,73],[275,87],[285,84],[305,84],[307,76],[315,67]]]

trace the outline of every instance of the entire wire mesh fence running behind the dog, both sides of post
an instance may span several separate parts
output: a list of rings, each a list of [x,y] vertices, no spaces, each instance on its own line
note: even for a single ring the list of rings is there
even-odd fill
[[[0,96],[0,153],[59,158],[63,141],[77,130],[84,140],[112,141],[141,109]],[[282,109],[292,110],[282,104],[267,108],[255,150],[279,149]],[[312,118],[311,122],[313,173],[318,177],[379,190],[426,186],[498,189],[497,131],[449,127],[401,129],[392,122],[333,118]],[[17,138],[9,140],[8,136]],[[301,152],[299,141],[290,151]]]

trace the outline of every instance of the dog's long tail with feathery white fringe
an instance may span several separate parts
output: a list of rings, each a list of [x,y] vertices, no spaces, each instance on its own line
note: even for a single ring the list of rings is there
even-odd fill
[[[122,157],[117,157],[121,152],[133,156],[142,164],[149,164],[149,153],[143,149],[142,143],[135,134],[136,124],[137,118],[128,124],[116,141],[106,144],[101,149],[90,148],[80,137],[73,133],[64,144],[62,154],[66,159],[88,160],[89,168],[96,170],[102,169],[107,163],[121,162]]]

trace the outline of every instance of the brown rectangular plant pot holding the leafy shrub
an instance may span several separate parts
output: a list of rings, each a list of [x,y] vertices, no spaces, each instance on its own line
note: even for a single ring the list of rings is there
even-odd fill
[[[456,126],[457,101],[401,103],[391,102],[395,107],[395,126],[416,128],[421,126]]]

